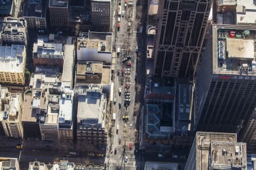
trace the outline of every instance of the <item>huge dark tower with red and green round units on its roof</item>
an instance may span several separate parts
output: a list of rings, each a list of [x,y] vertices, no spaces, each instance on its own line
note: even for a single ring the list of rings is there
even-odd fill
[[[239,133],[249,121],[256,104],[255,31],[250,25],[210,28],[196,78],[197,130]]]

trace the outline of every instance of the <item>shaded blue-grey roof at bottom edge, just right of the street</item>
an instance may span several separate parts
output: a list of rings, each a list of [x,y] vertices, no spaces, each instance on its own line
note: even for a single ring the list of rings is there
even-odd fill
[[[177,170],[177,163],[146,162],[144,170]]]

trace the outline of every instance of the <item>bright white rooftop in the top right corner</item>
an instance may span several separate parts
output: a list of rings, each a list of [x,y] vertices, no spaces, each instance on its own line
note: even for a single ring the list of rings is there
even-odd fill
[[[254,0],[237,0],[237,24],[255,24],[255,12]]]

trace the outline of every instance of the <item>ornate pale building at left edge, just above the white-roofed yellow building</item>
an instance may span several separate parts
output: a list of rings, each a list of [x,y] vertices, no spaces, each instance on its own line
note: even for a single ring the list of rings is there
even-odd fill
[[[27,45],[27,21],[24,18],[6,17],[1,32],[2,42]]]

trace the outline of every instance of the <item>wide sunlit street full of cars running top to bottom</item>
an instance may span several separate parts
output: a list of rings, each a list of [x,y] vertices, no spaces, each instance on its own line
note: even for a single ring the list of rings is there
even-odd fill
[[[119,5],[120,3],[121,5]],[[118,15],[119,6],[121,6],[122,15]],[[117,29],[118,23],[119,30]],[[127,5],[127,7],[125,7],[124,0],[115,1],[115,49],[119,49],[119,52],[117,52],[117,64],[114,71],[116,103],[112,112],[116,114],[116,118],[109,142],[108,169],[137,169],[141,167],[135,159],[135,155],[138,155],[139,152],[138,148],[135,148],[135,143],[138,142],[138,124],[137,113],[134,109],[139,110],[138,104],[135,105],[135,100],[138,98],[135,73],[137,74],[137,53],[141,51],[142,45],[138,44],[142,40],[141,33],[137,32],[137,23],[136,1],[133,1],[133,6]],[[126,59],[127,56],[131,56],[131,59]],[[123,61],[124,59],[127,61]],[[121,90],[121,94],[119,90]],[[126,106],[127,98],[130,101]]]

